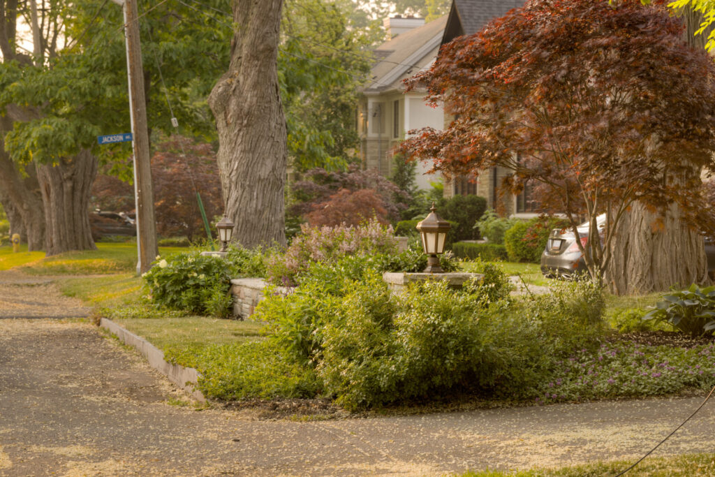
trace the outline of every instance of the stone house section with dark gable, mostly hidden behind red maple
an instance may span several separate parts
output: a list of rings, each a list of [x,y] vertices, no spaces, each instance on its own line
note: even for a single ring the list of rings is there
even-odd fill
[[[503,16],[524,3],[525,0],[453,0],[442,44],[447,44],[458,36],[475,34],[490,20]],[[445,118],[445,123],[448,120],[449,118]],[[538,204],[533,200],[533,189],[528,184],[520,195],[500,192],[501,182],[508,174],[508,169],[493,167],[480,171],[477,177],[455,177],[445,184],[445,197],[476,194],[485,197],[487,206],[496,210],[499,215],[536,215]]]

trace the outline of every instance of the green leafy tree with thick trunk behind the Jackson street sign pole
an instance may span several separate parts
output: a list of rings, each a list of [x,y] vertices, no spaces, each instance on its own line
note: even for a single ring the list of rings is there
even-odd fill
[[[207,13],[226,4],[195,5],[142,5],[147,113],[153,127],[170,129],[177,117],[184,131],[209,134],[210,115],[197,98],[205,97],[227,62],[231,28],[217,28]],[[3,51],[14,56],[4,54],[0,69],[0,105],[11,121],[4,149],[14,167],[36,171],[47,252],[92,248],[87,207],[98,162],[118,164],[115,172],[131,177],[131,169],[119,167],[131,152],[129,144],[97,145],[99,134],[129,130],[122,9],[94,0],[49,2],[34,14],[34,2],[22,8],[29,10],[34,51],[18,54],[12,29]],[[4,13],[10,19],[9,11]]]

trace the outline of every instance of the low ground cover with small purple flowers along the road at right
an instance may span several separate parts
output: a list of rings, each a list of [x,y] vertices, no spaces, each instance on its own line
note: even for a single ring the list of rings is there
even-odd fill
[[[536,389],[537,402],[677,393],[715,385],[715,344],[671,348],[605,343],[558,360]]]

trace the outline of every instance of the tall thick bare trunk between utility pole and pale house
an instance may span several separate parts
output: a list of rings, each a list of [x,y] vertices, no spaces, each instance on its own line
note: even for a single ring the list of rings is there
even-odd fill
[[[241,245],[285,245],[286,127],[276,66],[282,0],[232,6],[230,67],[209,97],[225,213]]]

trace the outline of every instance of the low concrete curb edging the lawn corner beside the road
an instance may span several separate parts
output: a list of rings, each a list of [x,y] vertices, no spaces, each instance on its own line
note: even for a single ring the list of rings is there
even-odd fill
[[[164,353],[159,350],[156,346],[149,343],[144,338],[134,335],[134,333],[125,330],[121,326],[114,323],[112,320],[107,318],[102,318],[99,321],[99,326],[117,335],[117,338],[122,341],[125,345],[133,346],[139,353],[142,353],[144,358],[147,358],[149,365],[155,370],[162,373],[164,376],[169,378],[169,380],[187,391],[192,398],[198,400],[201,403],[206,402],[206,398],[201,393],[201,391],[194,388],[199,380],[199,372],[194,368],[184,368],[182,365],[172,365],[164,360]]]

